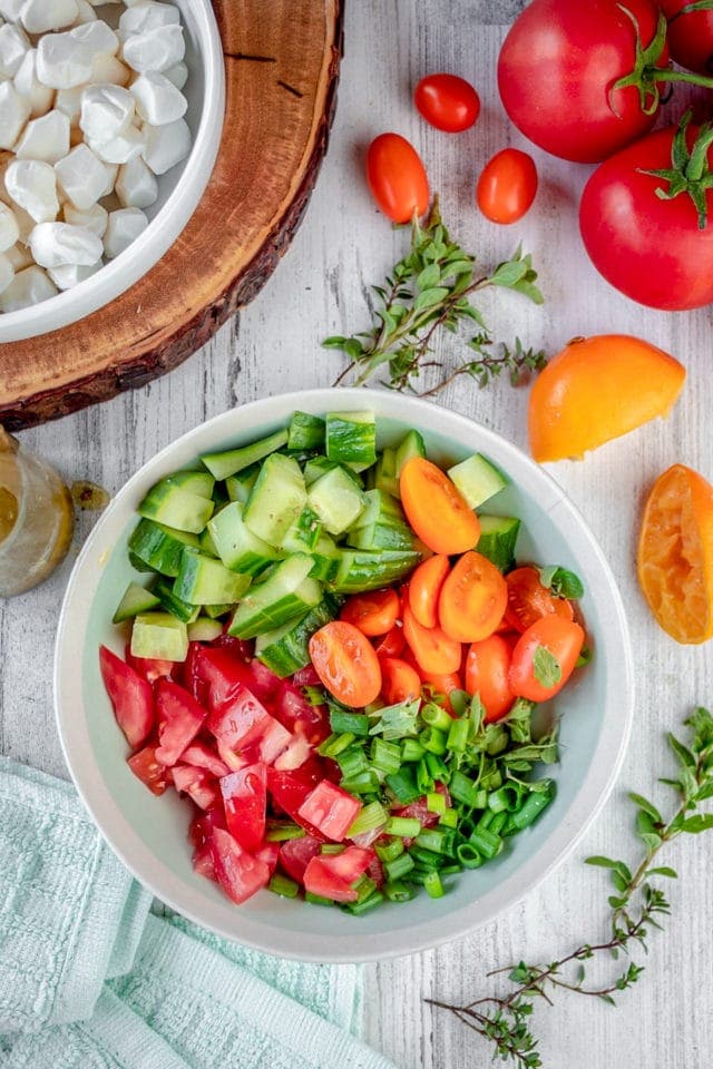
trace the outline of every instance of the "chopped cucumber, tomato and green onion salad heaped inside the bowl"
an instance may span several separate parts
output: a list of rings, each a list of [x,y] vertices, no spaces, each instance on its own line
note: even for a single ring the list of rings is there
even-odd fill
[[[439,898],[554,795],[537,714],[587,660],[579,579],[517,566],[505,486],[443,471],[418,431],[377,451],[370,412],[295,412],[141,501],[131,582],[101,647],[128,764],[194,807],[194,867],[364,913]],[[476,511],[480,510],[480,511]]]

